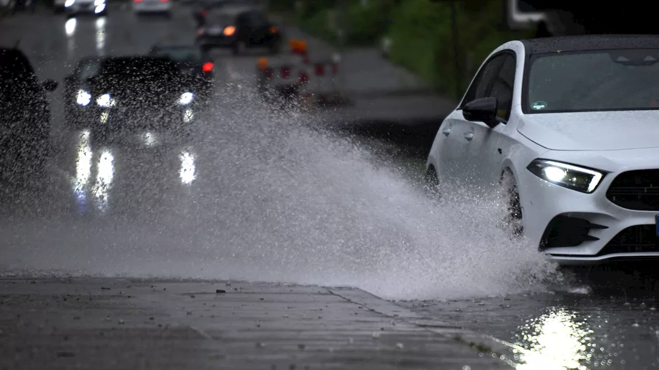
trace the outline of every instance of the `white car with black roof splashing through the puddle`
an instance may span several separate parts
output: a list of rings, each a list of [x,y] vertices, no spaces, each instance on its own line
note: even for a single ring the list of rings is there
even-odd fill
[[[561,265],[656,259],[658,122],[659,36],[510,41],[442,122],[426,179],[505,190]]]

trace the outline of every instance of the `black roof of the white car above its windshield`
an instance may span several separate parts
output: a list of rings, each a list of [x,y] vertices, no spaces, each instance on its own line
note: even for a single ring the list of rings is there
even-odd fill
[[[558,51],[659,49],[659,35],[581,35],[521,40],[527,55]]]

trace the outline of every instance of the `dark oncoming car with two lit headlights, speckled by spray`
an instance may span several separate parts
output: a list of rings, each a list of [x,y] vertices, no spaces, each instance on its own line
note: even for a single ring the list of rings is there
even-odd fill
[[[196,96],[169,58],[107,58],[87,82],[89,103],[82,115],[100,136],[185,129],[194,120]]]

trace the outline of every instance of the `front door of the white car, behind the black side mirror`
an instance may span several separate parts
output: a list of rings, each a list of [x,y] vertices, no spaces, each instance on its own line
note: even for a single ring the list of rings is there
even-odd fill
[[[504,122],[510,118],[513,103],[513,86],[515,83],[515,69],[517,60],[513,51],[501,53],[505,58],[498,73],[492,80],[486,96],[496,97],[498,102],[497,117]],[[502,156],[499,153],[501,132],[505,124],[490,128],[483,122],[469,122],[473,137],[469,145],[469,161],[474,171],[474,180],[479,186],[489,187],[498,182],[501,169]]]

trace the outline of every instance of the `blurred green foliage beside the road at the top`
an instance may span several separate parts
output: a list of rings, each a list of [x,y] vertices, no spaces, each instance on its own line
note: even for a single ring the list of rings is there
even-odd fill
[[[535,34],[504,30],[503,0],[455,1],[460,65],[456,74],[450,0],[367,0],[366,5],[361,0],[302,0],[298,7],[295,3],[270,0],[270,7],[293,15],[303,30],[335,45],[376,45],[386,36],[394,63],[453,97],[456,90],[464,92],[480,63],[498,45]],[[339,28],[345,30],[343,39]]]

